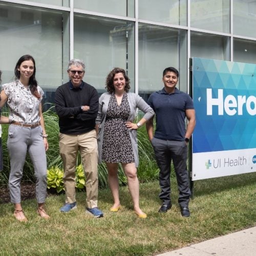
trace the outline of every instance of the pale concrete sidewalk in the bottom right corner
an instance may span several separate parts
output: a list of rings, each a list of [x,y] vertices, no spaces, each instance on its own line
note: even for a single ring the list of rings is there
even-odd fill
[[[227,234],[219,238],[193,244],[178,250],[159,254],[159,256],[255,256],[256,226],[242,231]]]

